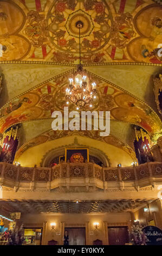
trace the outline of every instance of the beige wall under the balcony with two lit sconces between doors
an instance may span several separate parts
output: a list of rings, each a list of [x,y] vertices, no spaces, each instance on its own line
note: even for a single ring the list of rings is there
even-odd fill
[[[108,225],[126,225],[130,224],[131,214],[125,212],[122,214],[22,214],[21,221],[24,223],[24,227],[43,227],[43,242],[47,245],[48,241],[56,240],[62,242],[62,235],[56,232],[61,232],[61,222],[64,222],[66,227],[86,227],[86,222],[89,222],[89,231],[93,231],[93,235],[89,235],[87,232],[86,239],[88,244],[93,245],[93,241],[96,239],[102,240],[103,245],[108,244],[107,237],[107,224]],[[47,224],[45,223],[47,222]],[[55,231],[51,230],[50,223],[56,223]],[[99,222],[99,230],[95,230],[93,223]],[[104,225],[104,222],[106,224]],[[106,226],[106,228],[104,228]],[[47,228],[45,228],[47,227]],[[86,229],[87,230],[87,229]],[[87,230],[88,231],[88,230]]]

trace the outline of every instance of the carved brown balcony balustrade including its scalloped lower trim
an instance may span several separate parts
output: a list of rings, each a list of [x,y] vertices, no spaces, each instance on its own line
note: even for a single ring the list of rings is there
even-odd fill
[[[53,168],[21,167],[0,163],[0,185],[17,188],[145,187],[162,184],[162,162],[149,162],[135,167],[100,167],[94,163],[65,163]]]

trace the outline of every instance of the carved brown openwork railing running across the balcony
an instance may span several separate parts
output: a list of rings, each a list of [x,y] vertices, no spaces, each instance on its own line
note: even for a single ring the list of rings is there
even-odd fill
[[[94,179],[98,182],[140,182],[142,179],[152,181],[160,178],[162,181],[162,163],[149,162],[135,167],[100,167],[94,163],[60,163],[53,168],[46,167],[21,167],[13,164],[0,163],[0,185],[28,186],[27,183],[49,183],[56,180],[75,181]],[[88,180],[87,180],[88,179]],[[84,181],[83,181],[84,182]],[[92,182],[92,183],[93,183]],[[67,182],[66,182],[67,183]],[[45,184],[44,184],[45,185]],[[44,186],[43,185],[43,186]],[[76,185],[76,184],[75,184]],[[101,186],[102,187],[102,186]]]

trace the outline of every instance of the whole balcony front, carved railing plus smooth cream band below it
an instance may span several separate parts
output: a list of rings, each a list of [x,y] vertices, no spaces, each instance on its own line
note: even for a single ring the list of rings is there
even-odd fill
[[[60,163],[29,168],[0,163],[3,200],[157,199],[162,163],[102,168],[94,163]]]

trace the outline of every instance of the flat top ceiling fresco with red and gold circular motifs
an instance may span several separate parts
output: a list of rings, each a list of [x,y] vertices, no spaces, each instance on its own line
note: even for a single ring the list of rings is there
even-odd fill
[[[162,10],[150,0],[2,0],[1,61],[162,64]]]

